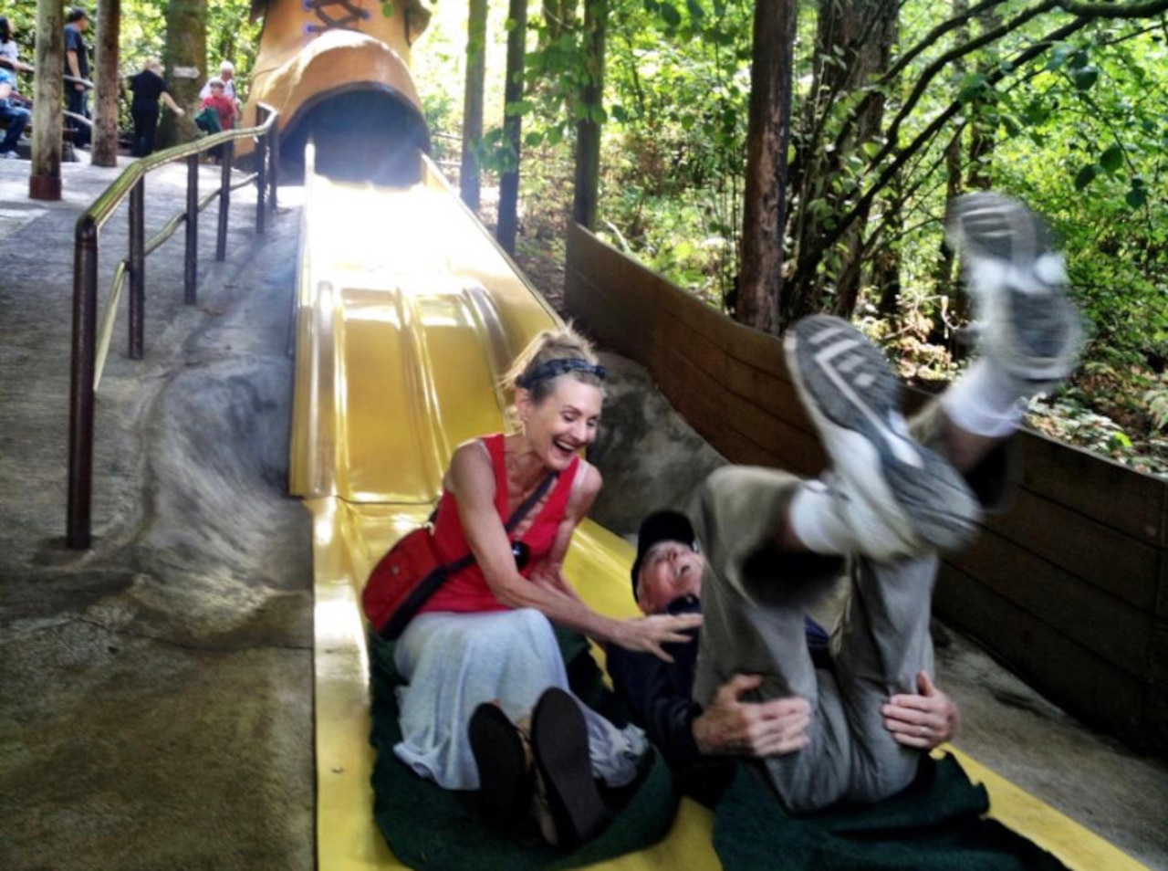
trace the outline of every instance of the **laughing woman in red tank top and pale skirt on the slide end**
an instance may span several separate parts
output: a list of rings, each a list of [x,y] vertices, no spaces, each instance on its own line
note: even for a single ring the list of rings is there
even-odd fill
[[[687,641],[682,631],[700,621],[605,617],[561,573],[600,490],[600,473],[579,451],[597,434],[604,374],[569,329],[541,333],[516,360],[505,388],[520,430],[463,444],[443,479],[434,539],[444,553],[468,549],[475,560],[426,602],[395,650],[406,680],[397,758],[447,789],[481,786],[485,815],[499,823],[527,811],[538,782],[544,791],[535,795],[545,797],[554,823],[545,835],[562,845],[603,824],[592,777],[628,783],[646,742],[635,727],[617,728],[568,696],[551,624],[667,659],[661,645]],[[533,498],[508,533],[505,518]],[[529,716],[531,753],[513,725]]]

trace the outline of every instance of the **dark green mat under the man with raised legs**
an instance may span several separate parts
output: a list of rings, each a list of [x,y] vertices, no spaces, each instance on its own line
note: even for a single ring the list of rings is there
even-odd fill
[[[745,765],[718,803],[725,871],[1057,871],[1064,865],[983,816],[989,800],[952,756],[926,759],[909,789],[865,808],[793,817]]]

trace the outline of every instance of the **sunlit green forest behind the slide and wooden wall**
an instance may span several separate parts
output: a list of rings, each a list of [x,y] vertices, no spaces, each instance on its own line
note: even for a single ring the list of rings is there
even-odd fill
[[[778,54],[792,89],[772,119],[786,131],[780,172],[764,179],[785,179],[771,185],[785,217],[766,290],[773,329],[809,311],[851,317],[906,380],[941,386],[965,364],[971,317],[943,241],[946,203],[968,189],[1009,192],[1050,221],[1090,330],[1079,373],[1034,401],[1029,423],[1168,476],[1168,1],[582,2],[592,8],[487,8],[485,134],[472,145],[486,173],[480,214],[489,226],[492,185],[517,171],[515,256],[549,297],[562,282],[573,145],[591,122],[603,131],[598,234],[742,313],[748,146],[758,141],[751,70]],[[232,61],[245,94],[259,34],[248,0],[183,6],[207,23],[202,69]],[[434,157],[457,175],[467,5],[431,8],[415,77]],[[505,103],[516,9],[523,88]],[[121,74],[166,61],[168,11],[121,0]],[[35,12],[35,0],[4,12],[25,58]],[[597,105],[582,91],[602,76]]]

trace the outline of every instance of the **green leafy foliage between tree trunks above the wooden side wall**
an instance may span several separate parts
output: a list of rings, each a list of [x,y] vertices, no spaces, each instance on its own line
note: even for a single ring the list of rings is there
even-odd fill
[[[1044,413],[1077,421],[1064,437],[1148,465],[1163,448],[1147,433],[1162,433],[1168,415],[1163,21],[1076,19],[1011,2],[987,9],[996,18],[947,22],[951,6],[908,0],[896,7],[885,71],[857,82],[844,75],[856,43],[815,56],[828,2],[851,16],[853,39],[871,29],[855,16],[878,6],[799,4],[790,157],[806,175],[786,192],[785,292],[814,281],[821,304],[842,304],[839,283],[862,264],[858,312],[912,358],[909,374],[950,375],[953,327],[968,317],[944,258],[950,187],[1018,195],[1048,216],[1091,324],[1080,393]],[[607,18],[600,226],[715,305],[737,274],[752,13],[725,0],[611,0]],[[529,154],[570,160],[585,111],[579,90],[595,71],[578,26],[530,21],[526,94],[509,110],[522,117],[521,193],[535,210],[566,196],[528,188]],[[833,76],[816,94],[814,70]],[[857,132],[874,103],[877,127]],[[484,154],[487,166],[516,166],[498,130]],[[829,168],[800,165],[808,155]],[[874,284],[875,263],[891,264],[891,304]]]

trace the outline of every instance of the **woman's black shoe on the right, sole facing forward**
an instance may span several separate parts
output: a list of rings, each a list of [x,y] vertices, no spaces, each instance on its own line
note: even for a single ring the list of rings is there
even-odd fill
[[[531,752],[556,828],[556,843],[573,850],[609,822],[592,779],[588,725],[576,700],[551,687],[531,713]]]

